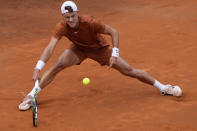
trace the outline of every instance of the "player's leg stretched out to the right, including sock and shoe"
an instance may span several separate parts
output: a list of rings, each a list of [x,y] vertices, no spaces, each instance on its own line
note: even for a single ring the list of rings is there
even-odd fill
[[[117,58],[117,62],[112,66],[112,68],[118,70],[120,73],[126,76],[137,78],[144,83],[155,86],[159,89],[161,94],[169,94],[173,96],[181,96],[182,94],[182,91],[178,86],[161,84],[159,81],[155,80],[152,76],[150,76],[146,71],[131,67],[121,57]]]

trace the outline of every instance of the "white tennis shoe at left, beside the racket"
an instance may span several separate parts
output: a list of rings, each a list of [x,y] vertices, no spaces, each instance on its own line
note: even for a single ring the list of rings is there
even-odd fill
[[[32,106],[33,97],[28,95],[24,98],[23,102],[19,104],[18,109],[21,111],[28,110]]]

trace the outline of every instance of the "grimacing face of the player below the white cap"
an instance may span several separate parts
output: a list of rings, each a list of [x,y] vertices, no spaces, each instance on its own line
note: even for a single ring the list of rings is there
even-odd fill
[[[66,23],[71,27],[71,28],[77,28],[79,24],[79,17],[78,17],[78,12],[68,12],[64,13],[63,15],[64,20]]]

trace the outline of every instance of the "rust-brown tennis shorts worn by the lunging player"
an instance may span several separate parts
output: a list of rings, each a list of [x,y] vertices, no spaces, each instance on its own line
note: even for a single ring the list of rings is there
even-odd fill
[[[78,56],[80,63],[86,58],[90,58],[98,62],[101,66],[109,65],[109,60],[112,54],[112,49],[109,45],[93,50],[84,50],[74,45],[70,47],[70,50]],[[80,63],[78,63],[78,65]]]

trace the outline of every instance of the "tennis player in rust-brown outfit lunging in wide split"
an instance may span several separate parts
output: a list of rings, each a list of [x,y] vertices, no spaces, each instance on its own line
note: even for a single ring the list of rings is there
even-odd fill
[[[164,85],[144,70],[133,68],[123,60],[119,56],[119,35],[114,28],[92,16],[79,15],[79,10],[72,1],[66,1],[62,4],[61,14],[62,19],[57,23],[51,40],[43,51],[33,72],[32,79],[34,81],[40,80],[39,86],[33,87],[32,91],[19,105],[19,110],[27,110],[32,106],[35,88],[38,88],[39,93],[60,71],[72,65],[79,65],[86,58],[93,59],[100,63],[101,66],[107,65],[109,68],[114,68],[125,76],[136,78],[141,82],[152,85],[162,95],[182,95],[179,86]],[[112,48],[110,48],[109,43],[101,34],[111,36]],[[72,42],[72,46],[65,49],[57,62],[40,77],[40,71],[52,56],[56,45],[63,36]]]

